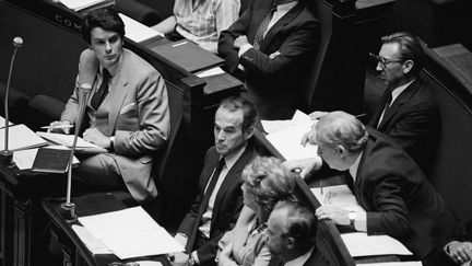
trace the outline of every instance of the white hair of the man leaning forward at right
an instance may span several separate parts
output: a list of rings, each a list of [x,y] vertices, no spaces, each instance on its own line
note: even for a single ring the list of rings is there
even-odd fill
[[[342,146],[351,152],[364,149],[368,132],[355,116],[342,111],[331,112],[316,125],[317,139],[329,146]]]

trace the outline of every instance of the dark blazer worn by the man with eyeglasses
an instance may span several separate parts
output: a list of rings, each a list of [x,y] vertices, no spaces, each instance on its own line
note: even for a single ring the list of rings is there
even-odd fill
[[[392,138],[427,174],[435,154],[432,148],[436,147],[440,126],[436,96],[430,88],[416,79],[396,99],[378,125],[389,93],[388,90],[384,93],[368,125]]]

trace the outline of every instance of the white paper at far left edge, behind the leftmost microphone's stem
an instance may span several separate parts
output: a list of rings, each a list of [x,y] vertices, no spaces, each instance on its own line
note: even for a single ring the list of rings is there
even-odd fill
[[[0,129],[0,150],[4,150],[5,129]],[[9,127],[9,150],[17,151],[47,146],[48,142],[23,124]]]

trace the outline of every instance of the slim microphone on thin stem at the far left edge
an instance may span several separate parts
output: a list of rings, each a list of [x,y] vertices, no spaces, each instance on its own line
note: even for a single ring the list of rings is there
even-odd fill
[[[4,146],[3,150],[0,151],[0,160],[8,166],[13,167],[15,163],[13,162],[13,152],[9,151],[8,144],[9,144],[9,127],[10,127],[10,115],[9,115],[9,106],[8,106],[8,100],[10,94],[10,82],[11,82],[11,74],[13,71],[13,63],[16,56],[16,51],[19,48],[23,46],[23,38],[22,37],[14,37],[13,38],[13,54],[12,59],[10,61],[10,70],[9,70],[9,77],[7,81],[7,90],[5,90],[5,97],[4,97],[4,114],[5,114],[5,127],[4,127]]]

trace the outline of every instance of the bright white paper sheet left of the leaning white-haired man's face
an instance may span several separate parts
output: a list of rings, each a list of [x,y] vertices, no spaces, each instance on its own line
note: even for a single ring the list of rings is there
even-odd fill
[[[302,137],[309,131],[312,123],[296,124],[285,129],[269,134],[266,138],[285,158],[285,160],[302,160],[317,158],[317,146],[300,144]]]

